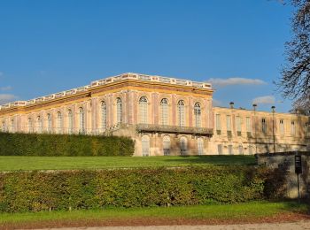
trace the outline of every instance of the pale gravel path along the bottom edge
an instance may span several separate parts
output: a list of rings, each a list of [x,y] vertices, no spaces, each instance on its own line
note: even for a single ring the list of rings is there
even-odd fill
[[[218,225],[218,226],[97,226],[97,227],[67,227],[49,228],[50,230],[310,230],[310,221],[298,221],[293,223],[272,223],[272,224],[246,224],[246,225]]]

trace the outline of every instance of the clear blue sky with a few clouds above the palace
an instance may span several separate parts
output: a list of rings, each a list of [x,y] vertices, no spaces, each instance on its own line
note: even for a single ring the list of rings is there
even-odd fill
[[[213,103],[291,109],[273,83],[291,39],[277,0],[0,0],[0,104],[120,73],[213,84]]]

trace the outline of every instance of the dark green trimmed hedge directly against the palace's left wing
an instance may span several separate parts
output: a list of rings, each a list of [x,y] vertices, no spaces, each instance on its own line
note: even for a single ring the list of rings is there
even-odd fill
[[[132,156],[128,137],[0,133],[0,156]]]

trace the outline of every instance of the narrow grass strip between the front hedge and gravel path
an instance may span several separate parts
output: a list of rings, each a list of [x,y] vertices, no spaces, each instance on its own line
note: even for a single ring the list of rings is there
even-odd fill
[[[0,226],[50,220],[105,219],[258,219],[288,212],[306,213],[306,204],[252,202],[181,207],[0,213]]]

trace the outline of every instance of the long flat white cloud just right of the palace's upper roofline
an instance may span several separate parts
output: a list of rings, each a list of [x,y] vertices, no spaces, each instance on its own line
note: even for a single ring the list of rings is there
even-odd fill
[[[260,79],[249,79],[249,78],[211,78],[206,80],[213,84],[215,87],[226,87],[226,86],[233,86],[233,85],[264,85],[267,84],[264,80]]]

